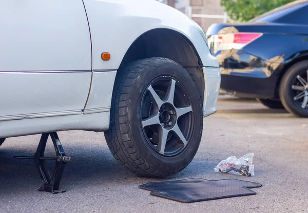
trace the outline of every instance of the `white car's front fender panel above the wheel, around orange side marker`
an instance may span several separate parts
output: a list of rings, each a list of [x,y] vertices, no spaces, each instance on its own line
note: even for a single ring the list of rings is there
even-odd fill
[[[198,27],[178,10],[153,0],[84,0],[89,20],[93,70],[117,70],[130,45],[153,29],[177,31],[189,39],[205,67],[215,67]],[[109,52],[108,61],[101,59]]]

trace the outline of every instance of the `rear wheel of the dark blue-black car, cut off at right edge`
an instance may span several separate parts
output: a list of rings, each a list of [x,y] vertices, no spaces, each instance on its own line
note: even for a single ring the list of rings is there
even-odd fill
[[[279,95],[287,111],[308,117],[308,60],[287,70],[280,83]]]

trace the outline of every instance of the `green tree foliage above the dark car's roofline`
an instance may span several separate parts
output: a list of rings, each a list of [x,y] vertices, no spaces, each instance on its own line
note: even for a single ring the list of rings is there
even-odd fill
[[[294,0],[221,0],[229,17],[245,22]]]

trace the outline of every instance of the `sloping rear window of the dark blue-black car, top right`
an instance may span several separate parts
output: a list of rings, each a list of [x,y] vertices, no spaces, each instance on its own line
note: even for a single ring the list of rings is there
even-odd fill
[[[249,22],[308,24],[308,1],[289,3],[253,18]]]

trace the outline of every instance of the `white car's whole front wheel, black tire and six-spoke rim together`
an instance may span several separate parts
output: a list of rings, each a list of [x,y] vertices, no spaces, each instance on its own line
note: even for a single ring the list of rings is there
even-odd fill
[[[198,89],[184,68],[166,58],[132,62],[115,82],[105,137],[121,165],[142,176],[180,172],[202,135]]]

